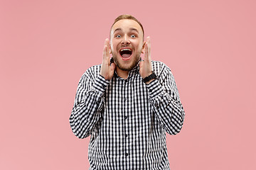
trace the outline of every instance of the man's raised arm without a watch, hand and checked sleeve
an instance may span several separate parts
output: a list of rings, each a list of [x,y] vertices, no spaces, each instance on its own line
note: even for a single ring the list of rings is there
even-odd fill
[[[114,74],[115,64],[110,64],[110,41],[108,39],[105,40],[102,56],[100,74],[94,73],[95,70],[91,67],[78,84],[75,103],[70,115],[70,126],[79,138],[89,136],[100,120],[104,103],[103,95]]]

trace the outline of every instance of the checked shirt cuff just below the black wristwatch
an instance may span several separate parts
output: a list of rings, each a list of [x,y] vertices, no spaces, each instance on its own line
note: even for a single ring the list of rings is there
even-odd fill
[[[159,84],[158,79],[154,79],[150,82],[150,84],[146,84],[146,88],[149,91],[150,98],[155,98],[164,94],[164,89],[162,88],[161,84]]]

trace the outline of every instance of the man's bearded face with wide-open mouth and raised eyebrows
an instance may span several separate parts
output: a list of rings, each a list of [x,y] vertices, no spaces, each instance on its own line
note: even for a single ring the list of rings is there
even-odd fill
[[[140,60],[143,47],[142,28],[134,20],[122,19],[110,31],[110,47],[119,69],[130,71]]]

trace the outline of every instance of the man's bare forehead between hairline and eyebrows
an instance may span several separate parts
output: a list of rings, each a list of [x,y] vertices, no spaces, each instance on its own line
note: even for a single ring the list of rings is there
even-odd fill
[[[139,23],[132,19],[122,19],[114,23],[114,25],[111,28],[111,33],[114,33],[114,30],[117,30],[121,28],[122,31],[128,31],[131,30],[131,28],[135,28],[139,31],[139,34],[142,34],[142,27],[139,26]]]

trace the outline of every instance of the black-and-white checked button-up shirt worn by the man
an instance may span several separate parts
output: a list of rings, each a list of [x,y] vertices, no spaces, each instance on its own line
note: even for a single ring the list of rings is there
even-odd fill
[[[150,84],[139,65],[127,79],[114,73],[110,81],[100,67],[82,75],[70,115],[73,133],[90,135],[90,169],[169,169],[166,132],[180,132],[185,116],[169,67],[152,61],[159,79]]]

